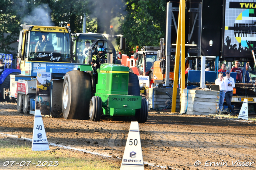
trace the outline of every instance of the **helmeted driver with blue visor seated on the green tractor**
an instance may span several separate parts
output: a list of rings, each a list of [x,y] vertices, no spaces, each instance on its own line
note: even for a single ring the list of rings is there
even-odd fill
[[[92,56],[92,66],[98,69],[100,68],[100,64],[107,63],[107,53],[106,48],[103,45],[98,45],[96,47],[96,54]]]

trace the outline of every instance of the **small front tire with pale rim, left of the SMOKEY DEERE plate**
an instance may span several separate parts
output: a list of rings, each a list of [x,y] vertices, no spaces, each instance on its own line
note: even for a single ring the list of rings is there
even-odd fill
[[[90,120],[100,121],[102,115],[102,100],[99,96],[93,96],[90,102]]]

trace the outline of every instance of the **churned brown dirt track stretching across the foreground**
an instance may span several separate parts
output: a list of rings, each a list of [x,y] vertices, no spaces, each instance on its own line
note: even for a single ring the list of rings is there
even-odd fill
[[[130,121],[135,121],[42,119],[49,143],[107,155],[109,162],[120,165]],[[34,115],[17,113],[16,104],[0,103],[1,138],[10,140],[12,137],[3,135],[10,134],[32,139],[33,123]],[[139,123],[139,128],[145,169],[256,168],[255,121],[151,111],[148,121]],[[106,159],[94,154],[90,158]]]

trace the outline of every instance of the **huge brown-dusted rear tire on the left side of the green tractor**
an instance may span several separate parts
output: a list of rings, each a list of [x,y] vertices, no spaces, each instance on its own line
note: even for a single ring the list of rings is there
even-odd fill
[[[86,72],[67,72],[62,88],[62,113],[65,119],[88,119],[91,79]]]

